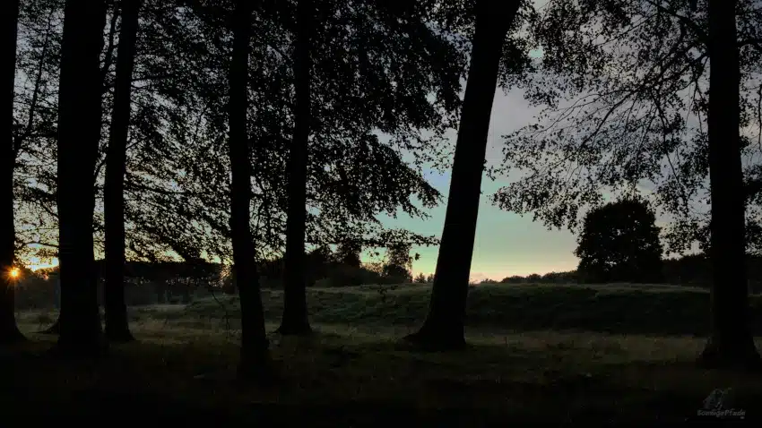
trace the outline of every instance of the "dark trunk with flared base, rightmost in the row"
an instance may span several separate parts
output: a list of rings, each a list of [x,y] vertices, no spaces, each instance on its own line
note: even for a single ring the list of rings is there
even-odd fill
[[[707,368],[758,370],[762,359],[749,329],[736,4],[736,0],[709,1],[712,327],[699,363]]]

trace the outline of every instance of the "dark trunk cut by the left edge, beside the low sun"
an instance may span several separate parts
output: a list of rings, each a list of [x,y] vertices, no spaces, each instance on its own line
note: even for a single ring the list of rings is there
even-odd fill
[[[0,26],[4,30],[0,57],[5,59],[4,80],[10,99],[3,100],[0,108],[0,134],[5,149],[0,152],[0,203],[3,204],[3,224],[0,225],[0,343],[13,343],[23,339],[16,325],[13,276],[15,265],[15,224],[13,222],[13,169],[16,163],[16,147],[13,139],[13,90],[16,78],[16,39],[18,37],[19,0],[6,4]]]

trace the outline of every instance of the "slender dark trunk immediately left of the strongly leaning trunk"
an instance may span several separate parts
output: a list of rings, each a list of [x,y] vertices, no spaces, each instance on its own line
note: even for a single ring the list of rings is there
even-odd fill
[[[294,49],[296,80],[296,124],[289,154],[289,213],[286,220],[283,318],[278,331],[284,335],[309,334],[304,252],[307,225],[307,142],[309,140],[309,33],[312,25],[312,0],[299,0],[297,37]]]

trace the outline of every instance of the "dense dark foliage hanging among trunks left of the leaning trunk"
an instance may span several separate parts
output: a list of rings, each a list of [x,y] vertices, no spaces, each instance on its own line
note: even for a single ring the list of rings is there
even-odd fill
[[[288,37],[293,5],[264,2],[255,13],[249,139],[257,148],[252,230],[261,259],[278,255],[283,246],[284,165],[293,126]],[[15,186],[21,231],[17,246],[27,258],[56,254],[56,153],[51,142],[62,7],[55,0],[22,2],[25,43],[15,117],[22,154]],[[227,77],[221,70],[227,69],[229,56],[230,7],[229,2],[180,0],[143,4],[126,176],[129,259],[229,258],[228,160],[221,145],[227,138]],[[396,239],[437,242],[385,230],[376,218],[398,209],[425,217],[421,207],[440,198],[423,179],[420,164],[441,163],[446,157],[443,134],[454,125],[465,56],[460,42],[424,24],[425,12],[360,0],[322,2],[316,11],[316,115],[307,195],[307,241],[312,244],[347,238],[382,245]],[[106,112],[111,110],[119,25],[112,9],[102,63]],[[383,69],[389,72],[378,73]],[[109,122],[105,115],[103,141]],[[198,162],[200,158],[207,161]],[[96,172],[99,195],[102,160]],[[98,244],[100,206],[99,201]],[[32,243],[46,246],[30,248]]]

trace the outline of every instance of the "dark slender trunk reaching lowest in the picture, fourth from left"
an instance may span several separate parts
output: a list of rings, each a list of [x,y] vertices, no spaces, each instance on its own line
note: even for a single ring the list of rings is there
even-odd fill
[[[264,382],[272,379],[269,342],[264,330],[255,246],[249,225],[251,158],[247,133],[248,57],[253,2],[238,0],[233,17],[233,57],[229,71],[230,228],[233,270],[241,299],[241,355],[238,377]]]

